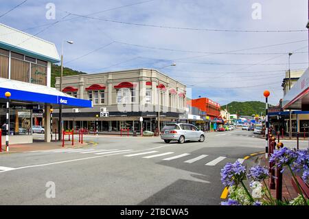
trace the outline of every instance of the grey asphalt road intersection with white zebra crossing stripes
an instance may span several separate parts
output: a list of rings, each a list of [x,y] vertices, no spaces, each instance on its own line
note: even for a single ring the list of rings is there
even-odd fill
[[[1,154],[0,205],[218,205],[220,169],[264,151],[265,143],[246,130],[207,133],[203,143],[85,140],[92,146]],[[54,183],[55,198],[47,198],[47,182]]]

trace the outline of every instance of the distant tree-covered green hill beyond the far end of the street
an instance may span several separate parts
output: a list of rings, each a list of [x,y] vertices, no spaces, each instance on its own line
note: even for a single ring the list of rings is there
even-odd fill
[[[269,105],[271,106],[271,105]],[[265,103],[260,101],[248,101],[248,102],[230,102],[227,105],[221,106],[221,110],[228,107],[228,111],[231,114],[237,115],[253,115],[258,114],[265,115]]]

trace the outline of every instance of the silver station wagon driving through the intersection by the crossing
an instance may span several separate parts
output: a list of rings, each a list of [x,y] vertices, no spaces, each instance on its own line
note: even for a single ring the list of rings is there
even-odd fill
[[[205,132],[198,130],[198,128],[192,124],[171,123],[166,124],[162,128],[161,139],[163,139],[165,143],[170,143],[170,141],[183,143],[189,140],[203,142],[205,140]]]

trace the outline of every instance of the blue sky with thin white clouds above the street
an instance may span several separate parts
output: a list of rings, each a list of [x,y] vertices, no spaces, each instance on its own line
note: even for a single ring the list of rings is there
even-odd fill
[[[221,105],[264,102],[265,89],[278,104],[288,53],[291,70],[308,67],[307,22],[305,0],[1,0],[0,8],[0,23],[55,43],[59,54],[73,41],[65,67],[158,69],[192,98]]]

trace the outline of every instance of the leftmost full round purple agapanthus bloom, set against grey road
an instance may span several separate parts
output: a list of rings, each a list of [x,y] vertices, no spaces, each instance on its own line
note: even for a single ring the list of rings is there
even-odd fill
[[[238,185],[246,178],[246,168],[239,162],[227,163],[221,170],[221,182],[225,186]]]

